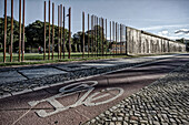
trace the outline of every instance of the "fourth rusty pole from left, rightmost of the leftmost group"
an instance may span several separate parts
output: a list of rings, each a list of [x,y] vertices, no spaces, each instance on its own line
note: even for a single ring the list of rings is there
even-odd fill
[[[24,0],[23,0],[23,10],[22,10],[22,62],[24,61]]]

